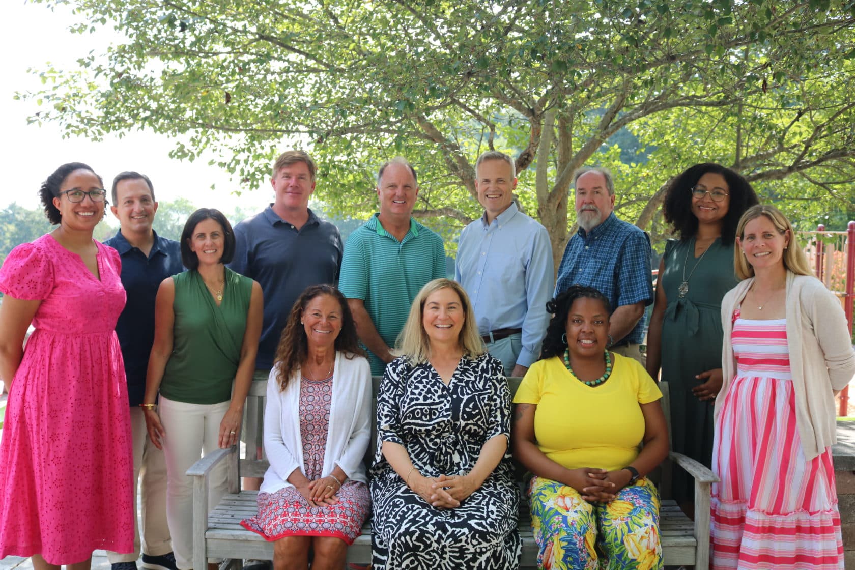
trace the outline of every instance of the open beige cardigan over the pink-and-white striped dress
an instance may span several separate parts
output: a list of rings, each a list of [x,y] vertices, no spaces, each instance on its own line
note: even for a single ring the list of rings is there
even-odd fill
[[[754,279],[745,279],[722,299],[722,390],[716,397],[717,421],[736,374],[731,346],[734,310]],[[787,348],[796,401],[796,426],[805,458],[811,460],[837,441],[834,393],[855,375],[855,351],[846,315],[834,293],[815,277],[787,271]]]

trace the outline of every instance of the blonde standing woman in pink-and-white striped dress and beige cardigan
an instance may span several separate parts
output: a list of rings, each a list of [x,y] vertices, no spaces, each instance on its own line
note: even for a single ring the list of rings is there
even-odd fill
[[[722,301],[712,566],[842,569],[831,445],[834,395],[855,374],[846,317],[781,212],[754,206],[736,234],[743,281]]]

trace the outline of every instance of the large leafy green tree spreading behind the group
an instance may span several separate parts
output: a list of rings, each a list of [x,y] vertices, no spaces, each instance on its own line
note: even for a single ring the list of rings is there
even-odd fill
[[[67,3],[76,32],[127,41],[37,70],[32,120],[174,135],[174,156],[214,150],[247,188],[303,145],[343,217],[374,210],[375,168],[403,155],[416,215],[453,234],[479,215],[488,149],[516,158],[556,257],[585,164],[613,170],[617,214],[654,240],[665,185],[696,162],[734,167],[797,220],[855,203],[855,0]]]

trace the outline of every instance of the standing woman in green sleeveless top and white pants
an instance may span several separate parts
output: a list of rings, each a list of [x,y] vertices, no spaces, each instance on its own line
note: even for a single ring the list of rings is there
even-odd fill
[[[186,471],[201,455],[238,444],[261,336],[262,290],[225,266],[233,252],[226,216],[198,209],[181,232],[189,271],[157,290],[155,342],[140,405],[151,442],[166,458],[167,521],[181,570],[193,567],[193,484]],[[215,469],[212,507],[226,492],[226,464]]]

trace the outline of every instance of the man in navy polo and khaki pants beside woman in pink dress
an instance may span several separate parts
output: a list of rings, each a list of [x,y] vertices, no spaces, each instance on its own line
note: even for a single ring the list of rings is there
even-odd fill
[[[108,552],[112,570],[136,570],[142,534],[143,567],[177,570],[166,521],[166,461],[163,451],[149,441],[143,402],[145,370],[155,338],[155,297],[163,279],[184,271],[179,243],[161,238],[151,228],[157,211],[154,187],[144,174],[123,172],[113,179],[113,215],[121,227],[104,244],[121,256],[121,284],[127,303],[115,326],[125,361],[127,399],[131,403],[133,432],[133,492],[141,480],[142,532],[134,520],[133,554]]]

